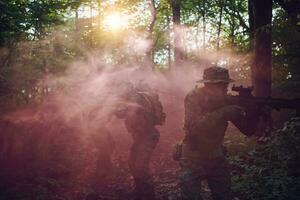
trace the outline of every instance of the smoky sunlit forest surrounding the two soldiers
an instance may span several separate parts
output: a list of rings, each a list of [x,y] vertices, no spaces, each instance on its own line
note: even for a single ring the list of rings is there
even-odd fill
[[[300,98],[300,0],[0,0],[0,199],[133,199],[132,138],[107,119],[126,81],[159,95],[151,174],[157,199],[180,199],[172,147],[184,98],[212,64],[256,97]],[[297,114],[272,110],[263,139],[229,125],[235,200],[299,199]],[[99,152],[113,167],[95,191]]]

